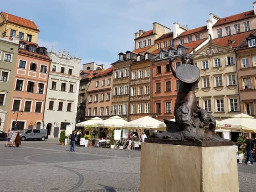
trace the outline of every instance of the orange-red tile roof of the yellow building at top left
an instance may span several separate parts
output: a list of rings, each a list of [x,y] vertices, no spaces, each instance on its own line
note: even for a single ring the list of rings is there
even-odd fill
[[[4,19],[7,20],[8,22],[12,22],[21,26],[25,26],[28,28],[32,28],[34,30],[38,30],[38,27],[36,26],[36,24],[33,21],[30,21],[28,19],[24,19],[6,12],[1,12],[2,15],[4,16]],[[8,16],[8,19],[7,19]],[[39,30],[38,30],[39,31]]]

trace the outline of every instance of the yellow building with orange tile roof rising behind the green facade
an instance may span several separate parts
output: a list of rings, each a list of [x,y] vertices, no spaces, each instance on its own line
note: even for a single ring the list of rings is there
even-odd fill
[[[5,36],[18,36],[22,40],[37,43],[38,26],[32,19],[24,19],[6,12],[0,12],[0,33]]]

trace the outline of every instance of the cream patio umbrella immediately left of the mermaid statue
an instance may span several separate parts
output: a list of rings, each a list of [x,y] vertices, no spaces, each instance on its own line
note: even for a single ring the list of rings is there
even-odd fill
[[[138,118],[136,120],[125,123],[126,128],[140,128],[140,129],[166,129],[164,122],[154,119],[150,116]]]

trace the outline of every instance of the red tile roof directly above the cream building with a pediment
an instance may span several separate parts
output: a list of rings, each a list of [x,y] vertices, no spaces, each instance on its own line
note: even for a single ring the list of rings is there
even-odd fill
[[[230,39],[232,44],[231,46],[233,48],[236,48],[238,45],[240,45],[242,43],[243,40],[245,40],[250,33],[252,33],[254,30],[250,30],[248,32],[243,32],[243,33],[239,33],[239,34],[234,34],[234,35],[230,35],[230,36],[225,36],[222,38],[217,38],[217,39],[213,39],[212,43],[220,45],[220,46],[228,46],[228,40]]]

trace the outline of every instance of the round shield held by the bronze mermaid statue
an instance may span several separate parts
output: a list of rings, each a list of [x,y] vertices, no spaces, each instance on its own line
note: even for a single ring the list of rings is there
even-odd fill
[[[200,71],[191,64],[181,64],[176,68],[176,76],[185,83],[194,83],[200,77]]]

